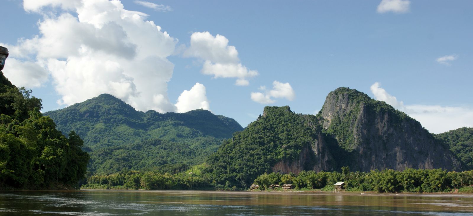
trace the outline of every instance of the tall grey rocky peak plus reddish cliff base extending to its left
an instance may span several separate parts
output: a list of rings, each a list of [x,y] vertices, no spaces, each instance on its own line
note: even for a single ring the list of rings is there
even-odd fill
[[[448,146],[418,121],[357,90],[338,88],[328,94],[312,121],[312,115],[304,116],[305,125],[317,133],[315,141],[304,146],[298,158],[277,162],[273,172],[297,174],[342,166],[364,172],[385,168],[464,169]]]

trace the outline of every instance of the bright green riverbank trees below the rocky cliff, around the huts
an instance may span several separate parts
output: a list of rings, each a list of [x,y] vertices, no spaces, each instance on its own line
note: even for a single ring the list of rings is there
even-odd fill
[[[302,171],[299,174],[262,174],[254,183],[260,185],[259,190],[268,190],[272,184],[294,184],[296,190],[321,189],[333,191],[333,184],[344,182],[346,191],[377,191],[377,192],[473,192],[473,170],[464,172],[447,172],[442,169],[392,169],[375,170],[369,173],[350,172],[347,166],[342,172]],[[462,189],[463,188],[463,189]]]

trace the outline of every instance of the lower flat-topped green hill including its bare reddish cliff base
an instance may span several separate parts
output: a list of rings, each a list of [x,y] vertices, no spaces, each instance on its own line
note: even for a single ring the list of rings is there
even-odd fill
[[[288,106],[265,107],[263,116],[222,143],[202,172],[219,184],[245,188],[265,172],[333,170],[336,161],[321,131],[314,115],[293,113]]]

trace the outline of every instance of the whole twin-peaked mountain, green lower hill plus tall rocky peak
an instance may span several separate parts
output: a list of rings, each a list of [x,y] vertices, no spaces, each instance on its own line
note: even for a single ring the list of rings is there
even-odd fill
[[[419,122],[383,101],[349,88],[328,94],[317,115],[265,107],[263,116],[235,133],[203,170],[218,183],[243,187],[264,172],[299,173],[406,168],[464,169]]]

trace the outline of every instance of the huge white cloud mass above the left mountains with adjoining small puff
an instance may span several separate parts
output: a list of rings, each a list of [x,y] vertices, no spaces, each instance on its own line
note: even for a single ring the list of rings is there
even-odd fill
[[[146,14],[124,9],[119,0],[25,0],[23,6],[43,19],[38,35],[2,44],[10,50],[4,72],[12,83],[38,87],[50,75],[61,105],[109,93],[143,111],[210,109],[200,83],[176,105],[170,102],[167,83],[174,64],[167,57],[178,40]],[[189,92],[195,97],[185,97]]]

